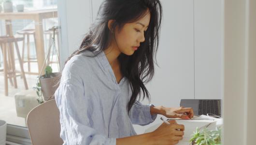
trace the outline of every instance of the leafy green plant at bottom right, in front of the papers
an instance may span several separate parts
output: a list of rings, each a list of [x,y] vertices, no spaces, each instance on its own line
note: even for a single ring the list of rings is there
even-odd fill
[[[207,128],[203,128],[199,131],[197,128],[196,132],[191,135],[190,143],[192,145],[221,145],[221,128],[217,127],[216,130],[209,131]]]

